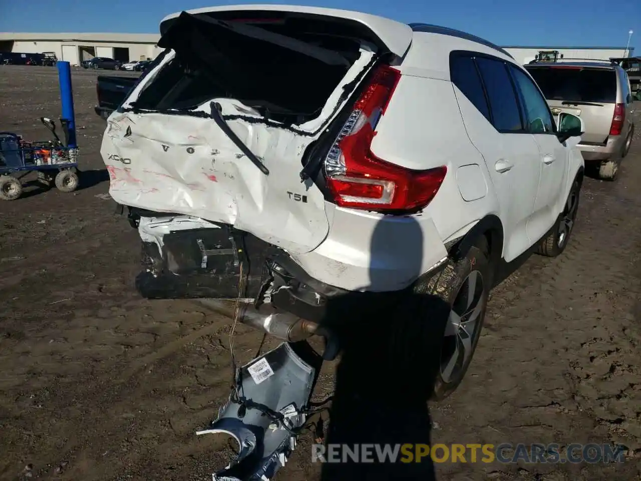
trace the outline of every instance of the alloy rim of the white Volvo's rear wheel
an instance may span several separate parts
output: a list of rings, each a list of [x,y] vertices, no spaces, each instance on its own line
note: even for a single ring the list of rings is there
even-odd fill
[[[440,359],[440,375],[444,382],[455,380],[472,356],[484,305],[483,276],[479,271],[472,271],[461,284],[447,320]]]

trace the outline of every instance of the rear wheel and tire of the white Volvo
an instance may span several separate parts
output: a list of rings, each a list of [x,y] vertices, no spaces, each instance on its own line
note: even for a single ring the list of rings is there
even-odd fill
[[[463,381],[478,344],[487,300],[492,285],[492,267],[488,242],[481,236],[467,255],[450,263],[431,278],[421,278],[415,286],[418,295],[432,294],[449,305],[449,316],[427,319],[429,351],[426,350],[430,380],[433,380],[431,400],[449,397]],[[435,300],[427,299],[434,303]],[[429,312],[429,310],[427,310]]]

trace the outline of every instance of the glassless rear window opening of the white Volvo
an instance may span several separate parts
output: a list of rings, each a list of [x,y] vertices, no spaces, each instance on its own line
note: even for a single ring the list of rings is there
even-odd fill
[[[230,29],[197,18],[203,15],[183,15],[161,40],[176,56],[142,90],[135,108],[193,110],[222,97],[274,120],[304,122],[320,114],[360,56],[358,40],[328,34],[326,25],[322,33],[296,19],[251,25],[295,39],[286,47],[235,31],[240,22],[226,24]],[[301,52],[308,46],[312,55]]]

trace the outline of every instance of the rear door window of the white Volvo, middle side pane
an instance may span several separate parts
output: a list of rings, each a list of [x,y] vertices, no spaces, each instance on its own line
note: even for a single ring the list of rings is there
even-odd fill
[[[522,132],[519,104],[505,63],[501,60],[478,57],[476,65],[490,99],[494,128],[499,132]]]

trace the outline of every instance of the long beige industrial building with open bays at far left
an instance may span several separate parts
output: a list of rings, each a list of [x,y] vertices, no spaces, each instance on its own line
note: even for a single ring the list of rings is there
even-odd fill
[[[58,60],[79,65],[83,60],[108,57],[121,62],[156,58],[156,33],[13,33],[0,32],[0,52],[53,52]]]

